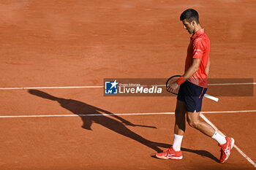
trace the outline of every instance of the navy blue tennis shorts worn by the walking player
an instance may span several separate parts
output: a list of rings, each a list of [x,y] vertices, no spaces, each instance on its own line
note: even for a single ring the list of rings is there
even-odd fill
[[[187,81],[181,84],[177,99],[185,102],[187,112],[200,112],[206,90],[207,88],[202,88]]]

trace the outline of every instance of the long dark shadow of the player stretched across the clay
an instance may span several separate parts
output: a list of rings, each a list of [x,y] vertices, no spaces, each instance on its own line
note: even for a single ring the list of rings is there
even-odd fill
[[[118,115],[114,115],[112,112],[108,112],[104,109],[100,109],[98,107],[91,106],[89,104],[83,103],[81,101],[76,101],[72,99],[65,99],[65,98],[58,98],[56,96],[51,96],[48,93],[45,93],[40,90],[29,90],[29,93],[31,93],[34,96],[39,96],[41,98],[47,98],[52,101],[57,101],[63,107],[64,109],[69,110],[70,112],[74,113],[75,115],[79,115],[80,118],[83,120],[82,128],[85,128],[87,130],[92,130],[91,125],[92,123],[98,123],[100,125],[103,125],[105,128],[110,129],[111,131],[116,132],[117,134],[121,134],[123,136],[127,136],[130,139],[133,139],[137,142],[140,142],[141,144],[144,144],[147,147],[150,147],[151,149],[162,152],[159,147],[170,147],[170,144],[162,144],[158,142],[151,142],[148,139],[143,138],[143,136],[140,136],[136,134],[135,132],[129,130],[126,125],[132,125],[132,126],[142,126],[142,127],[151,127],[147,125],[134,125],[130,123],[128,120],[125,120],[122,117],[119,117]],[[102,113],[106,114],[103,115]],[[97,115],[97,116],[95,116]],[[113,118],[116,119],[113,119]],[[119,121],[118,121],[119,120]],[[185,152],[195,152],[198,155],[206,156],[208,158],[214,159],[214,161],[217,160],[217,158],[214,157],[214,155],[211,155],[210,152],[207,152],[205,150],[189,150],[182,148]],[[217,160],[218,161],[218,160]]]

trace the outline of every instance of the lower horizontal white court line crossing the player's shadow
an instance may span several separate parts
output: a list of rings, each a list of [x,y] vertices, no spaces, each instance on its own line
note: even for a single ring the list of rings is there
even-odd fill
[[[238,113],[238,112],[256,112],[256,110],[237,110],[237,111],[212,111],[212,112],[201,112],[203,113]],[[79,114],[79,115],[6,115],[0,116],[0,118],[22,118],[22,117],[86,117],[86,116],[135,116],[135,115],[174,115],[174,112],[155,112],[155,113],[116,113],[116,114]]]

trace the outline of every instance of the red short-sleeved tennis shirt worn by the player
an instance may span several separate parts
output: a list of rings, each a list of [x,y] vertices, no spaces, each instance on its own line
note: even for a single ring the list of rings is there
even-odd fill
[[[203,88],[208,87],[206,66],[209,60],[210,47],[210,39],[206,35],[203,28],[192,35],[190,38],[189,47],[187,47],[185,72],[192,65],[193,58],[198,58],[201,60],[198,71],[195,72],[195,74],[193,74],[188,81]]]

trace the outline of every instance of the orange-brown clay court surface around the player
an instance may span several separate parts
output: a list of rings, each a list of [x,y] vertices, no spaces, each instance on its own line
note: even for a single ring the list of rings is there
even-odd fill
[[[219,164],[217,142],[188,125],[182,161],[151,156],[173,144],[175,97],[97,87],[182,74],[187,8],[211,39],[209,77],[256,79],[255,1],[1,1],[0,169],[255,169],[255,93],[204,98],[203,115],[246,155]],[[92,87],[58,88],[71,86]]]

